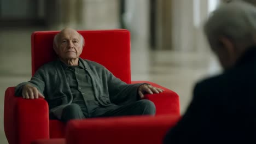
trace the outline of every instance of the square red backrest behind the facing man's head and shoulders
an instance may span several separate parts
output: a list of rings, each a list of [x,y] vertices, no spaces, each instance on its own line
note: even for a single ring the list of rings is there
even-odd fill
[[[40,66],[57,58],[53,39],[58,32],[39,31],[31,35],[32,75]],[[119,79],[131,83],[129,31],[113,29],[78,32],[85,40],[81,58],[100,63]]]

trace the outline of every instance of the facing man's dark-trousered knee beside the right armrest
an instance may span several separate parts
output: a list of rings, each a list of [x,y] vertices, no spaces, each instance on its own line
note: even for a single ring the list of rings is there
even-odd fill
[[[137,101],[141,107],[142,115],[155,115],[155,104],[147,99]]]

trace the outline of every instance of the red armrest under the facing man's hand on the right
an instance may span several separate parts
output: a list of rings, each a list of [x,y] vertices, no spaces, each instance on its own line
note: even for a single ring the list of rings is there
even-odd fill
[[[132,83],[149,83],[152,86],[165,89],[165,91],[160,94],[146,94],[145,99],[153,101],[156,107],[156,115],[180,115],[179,95],[177,93],[149,81],[132,81]]]

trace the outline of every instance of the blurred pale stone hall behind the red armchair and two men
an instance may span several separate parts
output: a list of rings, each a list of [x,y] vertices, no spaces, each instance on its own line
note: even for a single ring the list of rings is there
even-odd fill
[[[202,32],[220,0],[0,0],[0,143],[4,92],[30,80],[33,31],[126,28],[131,32],[132,80],[178,93],[181,113],[196,81],[220,73]]]

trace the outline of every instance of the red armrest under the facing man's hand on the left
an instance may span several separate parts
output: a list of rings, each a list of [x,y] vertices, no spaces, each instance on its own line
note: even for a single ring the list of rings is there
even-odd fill
[[[4,131],[10,144],[49,139],[49,108],[46,100],[15,97],[15,87],[5,91]]]

